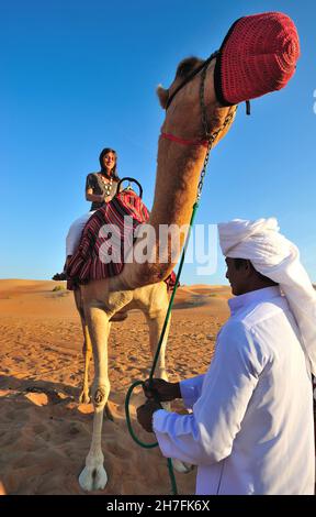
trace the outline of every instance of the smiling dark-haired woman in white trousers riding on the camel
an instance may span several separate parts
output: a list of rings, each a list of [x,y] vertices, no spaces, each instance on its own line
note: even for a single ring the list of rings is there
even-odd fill
[[[99,173],[88,174],[86,180],[86,199],[91,201],[91,208],[88,213],[76,219],[69,228],[66,238],[66,263],[63,273],[56,273],[53,280],[66,280],[66,267],[77,250],[82,230],[92,213],[98,208],[103,207],[115,196],[120,178],[116,173],[117,155],[113,148],[105,147],[101,151],[100,157],[101,170]]]

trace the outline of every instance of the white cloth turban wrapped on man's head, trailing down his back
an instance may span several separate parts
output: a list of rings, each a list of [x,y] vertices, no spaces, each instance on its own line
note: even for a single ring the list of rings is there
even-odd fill
[[[225,256],[247,258],[256,271],[280,284],[296,319],[311,371],[316,375],[316,292],[298,249],[279,233],[276,219],[234,219],[218,224]]]

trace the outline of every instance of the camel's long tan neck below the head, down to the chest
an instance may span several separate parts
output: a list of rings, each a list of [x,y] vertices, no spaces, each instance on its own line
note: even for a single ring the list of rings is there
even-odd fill
[[[163,280],[177,265],[185,233],[179,232],[179,239],[172,241],[159,240],[159,233],[162,229],[166,235],[166,226],[177,231],[189,226],[205,155],[206,150],[201,145],[182,146],[160,138],[155,199],[147,223],[155,232],[151,262],[137,263],[134,254],[133,262],[125,263],[120,277],[126,288]],[[139,239],[134,250],[138,243]]]

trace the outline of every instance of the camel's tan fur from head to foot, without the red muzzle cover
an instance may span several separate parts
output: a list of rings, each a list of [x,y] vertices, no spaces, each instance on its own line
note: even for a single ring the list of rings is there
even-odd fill
[[[200,63],[201,61],[196,58],[181,62],[170,88],[168,90],[163,90],[161,87],[158,88],[158,96],[162,106],[166,106],[169,95],[172,95],[184,76],[199,66]],[[235,111],[235,107],[221,107],[215,98],[214,66],[215,59],[207,68],[205,80],[207,122],[212,131],[221,128],[227,114]],[[200,81],[201,73],[177,94],[166,113],[166,120],[162,124],[163,132],[189,140],[204,138],[199,100]],[[229,125],[218,135],[215,144],[226,134],[228,129]],[[205,154],[206,150],[203,146],[184,146],[160,138],[155,200],[149,219],[149,224],[155,228],[157,235],[159,235],[159,224],[182,227],[190,222]],[[182,235],[181,245],[183,239],[184,235]],[[161,280],[172,271],[177,258],[171,260],[171,251],[168,250],[168,245],[162,250],[159,249],[157,240],[154,252],[158,250],[160,256],[165,257],[166,263],[127,263],[121,275],[104,280],[90,282],[88,285],[82,286],[76,295],[86,343],[86,371],[81,400],[86,402],[89,397],[88,365],[91,358],[91,348],[95,370],[91,391],[94,405],[92,443],[86,459],[86,468],[79,477],[80,485],[84,490],[103,488],[108,479],[103,468],[101,429],[103,409],[110,393],[108,376],[110,319],[122,309],[127,311],[137,307],[145,312],[149,324],[153,354],[159,340],[168,308],[167,288]],[[167,334],[168,332],[156,370],[156,376],[166,380],[165,348]]]

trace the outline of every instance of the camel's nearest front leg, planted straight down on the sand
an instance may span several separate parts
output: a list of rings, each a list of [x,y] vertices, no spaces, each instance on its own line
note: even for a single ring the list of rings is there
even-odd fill
[[[110,323],[106,312],[99,307],[89,307],[84,311],[92,342],[94,361],[94,381],[91,389],[94,406],[92,441],[86,458],[86,466],[79,476],[79,484],[84,491],[103,490],[108,475],[103,466],[102,424],[103,411],[110,394],[108,375],[108,338]]]

